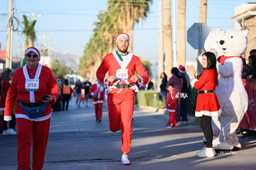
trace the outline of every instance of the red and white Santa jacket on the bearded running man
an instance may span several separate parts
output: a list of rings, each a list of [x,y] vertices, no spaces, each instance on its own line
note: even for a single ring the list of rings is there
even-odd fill
[[[114,88],[115,85],[119,84],[131,84],[133,85],[132,88],[134,91],[138,91],[139,88],[130,80],[130,77],[135,74],[136,72],[139,74],[140,79],[138,80],[139,84],[146,85],[148,83],[148,72],[140,61],[139,57],[134,56],[132,53],[128,53],[126,56],[123,57],[124,61],[121,61],[116,54],[116,51],[113,53],[107,54],[103,61],[101,62],[100,67],[96,71],[96,77],[100,82],[107,84],[108,83],[108,90],[113,91],[111,93],[115,93],[119,90]],[[117,77],[116,82],[106,82],[106,73],[108,72],[109,76],[114,75]],[[120,80],[120,81],[119,81]],[[122,89],[126,90],[126,88]]]

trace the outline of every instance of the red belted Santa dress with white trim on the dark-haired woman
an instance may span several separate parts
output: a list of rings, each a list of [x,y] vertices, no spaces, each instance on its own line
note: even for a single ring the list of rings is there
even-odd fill
[[[195,116],[218,116],[221,113],[221,108],[213,91],[216,87],[215,70],[204,70],[199,80],[192,80],[192,86],[198,89]]]

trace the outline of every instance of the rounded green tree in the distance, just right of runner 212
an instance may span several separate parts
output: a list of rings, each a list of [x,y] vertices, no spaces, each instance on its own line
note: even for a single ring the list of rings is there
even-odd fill
[[[54,77],[58,77],[60,80],[64,80],[66,74],[73,73],[70,67],[62,65],[58,60],[55,60],[51,64],[51,71],[53,72]]]

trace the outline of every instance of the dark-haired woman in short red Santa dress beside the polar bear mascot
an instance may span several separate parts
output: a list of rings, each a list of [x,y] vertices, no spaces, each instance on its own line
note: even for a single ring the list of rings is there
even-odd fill
[[[220,104],[215,95],[217,79],[216,57],[211,52],[205,52],[202,57],[203,72],[200,79],[195,79],[195,68],[187,66],[192,77],[192,86],[198,89],[195,116],[200,117],[200,127],[207,140],[206,148],[197,153],[198,157],[213,157],[215,150],[212,148],[213,130],[211,129],[211,116],[221,113]]]

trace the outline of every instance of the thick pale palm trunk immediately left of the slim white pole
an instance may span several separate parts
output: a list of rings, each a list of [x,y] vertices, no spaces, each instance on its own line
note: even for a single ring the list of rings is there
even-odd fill
[[[171,77],[171,68],[173,67],[173,44],[171,35],[171,0],[164,0],[164,72]]]

